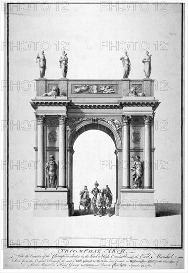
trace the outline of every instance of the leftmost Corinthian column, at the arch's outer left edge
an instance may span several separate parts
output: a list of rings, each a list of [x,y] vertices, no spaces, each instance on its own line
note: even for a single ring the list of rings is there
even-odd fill
[[[36,115],[38,125],[37,188],[45,188],[45,116]]]

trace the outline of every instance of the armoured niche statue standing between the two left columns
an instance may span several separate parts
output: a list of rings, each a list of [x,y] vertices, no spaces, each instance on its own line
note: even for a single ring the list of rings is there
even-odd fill
[[[57,170],[57,164],[54,160],[54,156],[50,155],[49,156],[49,161],[46,164],[46,177],[47,177],[47,185],[48,188],[57,188],[57,175],[56,175],[56,170]]]

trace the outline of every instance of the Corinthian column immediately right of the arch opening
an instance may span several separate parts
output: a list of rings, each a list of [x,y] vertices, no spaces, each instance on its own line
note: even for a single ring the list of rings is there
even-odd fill
[[[130,189],[130,116],[123,116],[123,188]]]

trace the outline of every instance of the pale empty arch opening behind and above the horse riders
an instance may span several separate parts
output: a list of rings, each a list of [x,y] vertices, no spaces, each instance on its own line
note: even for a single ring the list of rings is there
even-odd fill
[[[93,127],[94,128],[94,127]],[[89,129],[87,127],[82,133],[79,132],[74,141],[74,156],[72,161],[72,198],[74,203],[74,215],[83,215],[84,207],[80,203],[80,191],[87,186],[90,198],[94,196],[91,194],[94,188],[94,183],[99,183],[98,189],[102,191],[106,185],[109,186],[112,194],[112,208],[114,213],[114,203],[116,202],[116,155],[114,153],[116,145],[111,136],[108,137],[106,132],[101,132],[97,129]],[[80,134],[81,133],[81,134]],[[83,134],[84,133],[84,134]],[[108,134],[109,135],[109,134]],[[90,211],[92,213],[92,210]]]

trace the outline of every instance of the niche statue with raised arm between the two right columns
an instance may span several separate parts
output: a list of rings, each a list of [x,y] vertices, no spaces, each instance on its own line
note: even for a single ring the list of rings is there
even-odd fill
[[[143,175],[143,166],[141,163],[141,157],[139,155],[136,156],[136,159],[134,156],[132,156],[134,159],[133,167],[131,170],[133,171],[133,188],[138,189],[141,188],[141,177]]]

